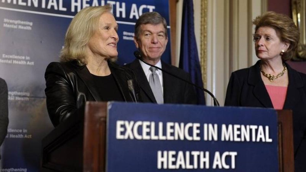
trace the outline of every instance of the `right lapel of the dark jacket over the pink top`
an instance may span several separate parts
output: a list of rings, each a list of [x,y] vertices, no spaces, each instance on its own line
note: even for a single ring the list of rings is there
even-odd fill
[[[287,88],[287,95],[283,109],[293,109],[294,105],[300,100],[299,88],[302,88],[303,81],[300,75],[294,71],[287,63],[285,63],[288,69],[289,85]]]

